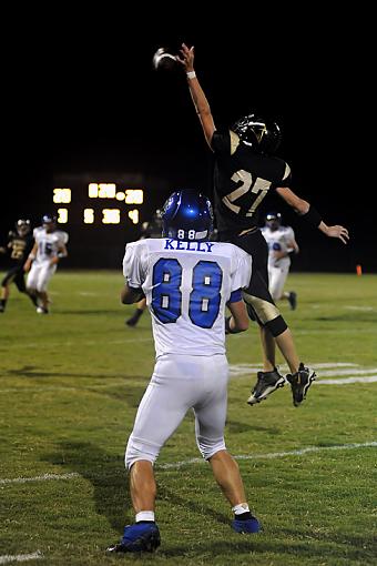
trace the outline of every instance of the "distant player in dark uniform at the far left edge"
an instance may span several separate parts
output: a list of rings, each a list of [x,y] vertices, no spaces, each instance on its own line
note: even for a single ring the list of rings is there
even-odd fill
[[[27,285],[24,282],[23,264],[28,257],[34,240],[31,234],[30,220],[18,220],[14,224],[16,232],[11,231],[8,235],[7,246],[0,247],[1,253],[10,253],[12,266],[1,282],[1,299],[0,299],[0,313],[6,311],[7,302],[10,294],[10,285],[14,283],[20,293],[26,293],[28,296]],[[34,304],[33,297],[31,301]]]

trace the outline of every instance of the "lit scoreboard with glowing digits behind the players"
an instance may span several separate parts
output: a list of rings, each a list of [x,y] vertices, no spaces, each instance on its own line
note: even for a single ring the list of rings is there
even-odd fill
[[[118,269],[124,244],[139,240],[171,192],[165,179],[142,173],[55,175],[50,203],[69,234],[64,265]]]

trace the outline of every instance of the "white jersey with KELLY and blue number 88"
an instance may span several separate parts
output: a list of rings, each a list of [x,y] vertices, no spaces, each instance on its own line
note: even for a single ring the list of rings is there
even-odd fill
[[[211,356],[225,353],[225,306],[241,300],[252,257],[231,243],[146,239],[125,246],[123,274],[145,294],[156,357]]]

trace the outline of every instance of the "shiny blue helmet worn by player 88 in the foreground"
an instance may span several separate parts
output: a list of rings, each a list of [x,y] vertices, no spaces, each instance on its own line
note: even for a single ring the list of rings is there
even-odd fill
[[[172,193],[162,213],[162,234],[185,241],[210,240],[213,231],[211,201],[202,193],[181,190]]]

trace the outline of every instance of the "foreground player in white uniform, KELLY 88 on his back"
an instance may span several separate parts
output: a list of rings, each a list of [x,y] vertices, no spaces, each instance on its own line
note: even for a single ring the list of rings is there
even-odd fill
[[[163,237],[126,245],[123,260],[124,304],[144,295],[152,317],[156,362],[140,403],[125,451],[135,523],[109,552],[153,550],[160,545],[155,523],[153,464],[160,449],[194,411],[196,443],[234,512],[232,527],[257,533],[238,466],[226,451],[228,364],[227,330],[247,330],[242,289],[252,259],[231,243],[211,242],[213,213],[206,196],[177,191],[162,211]]]

